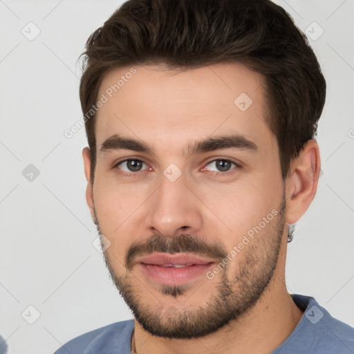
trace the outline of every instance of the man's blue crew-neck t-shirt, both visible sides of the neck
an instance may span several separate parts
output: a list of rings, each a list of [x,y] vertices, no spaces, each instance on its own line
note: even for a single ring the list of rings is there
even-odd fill
[[[291,295],[304,311],[290,336],[270,354],[353,354],[354,328],[338,321],[313,297]],[[133,319],[72,339],[54,354],[130,354]]]

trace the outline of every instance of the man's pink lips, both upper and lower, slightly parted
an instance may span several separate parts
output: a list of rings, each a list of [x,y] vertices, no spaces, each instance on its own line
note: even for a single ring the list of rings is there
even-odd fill
[[[214,265],[214,259],[195,256],[194,254],[153,253],[140,257],[136,265],[147,277],[165,285],[181,285],[198,279]],[[165,265],[165,267],[163,266]],[[169,265],[169,266],[166,266]],[[173,265],[187,265],[174,268]]]

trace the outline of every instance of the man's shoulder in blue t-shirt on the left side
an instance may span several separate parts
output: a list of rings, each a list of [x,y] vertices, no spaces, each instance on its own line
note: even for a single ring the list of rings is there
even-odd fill
[[[133,328],[133,319],[109,324],[71,339],[54,354],[130,353]]]

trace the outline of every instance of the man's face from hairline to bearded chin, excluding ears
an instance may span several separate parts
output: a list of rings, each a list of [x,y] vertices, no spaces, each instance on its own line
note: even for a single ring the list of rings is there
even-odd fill
[[[271,288],[286,238],[263,77],[135,66],[106,75],[103,96],[87,195],[111,277],[149,333],[212,333]]]

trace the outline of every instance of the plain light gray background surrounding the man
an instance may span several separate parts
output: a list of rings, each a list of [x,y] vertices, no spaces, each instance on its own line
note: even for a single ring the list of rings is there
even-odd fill
[[[313,38],[328,83],[323,174],[289,245],[288,290],[354,326],[354,1],[277,2]],[[77,57],[120,3],[0,0],[0,333],[12,354],[132,318],[92,245],[84,129],[64,136],[81,115]]]

